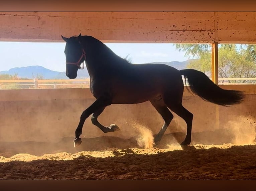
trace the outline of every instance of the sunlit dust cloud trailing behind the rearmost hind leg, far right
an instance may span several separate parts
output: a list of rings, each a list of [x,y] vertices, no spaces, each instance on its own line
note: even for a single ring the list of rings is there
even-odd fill
[[[200,148],[254,145],[255,127],[254,117],[236,115],[227,122],[220,122],[219,128],[197,133],[193,133],[192,129],[192,145]]]

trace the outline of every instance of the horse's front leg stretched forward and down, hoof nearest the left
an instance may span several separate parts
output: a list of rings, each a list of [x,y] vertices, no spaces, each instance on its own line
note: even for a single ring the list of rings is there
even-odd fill
[[[82,143],[82,139],[80,135],[82,134],[83,125],[85,120],[94,112],[101,109],[102,107],[106,107],[107,105],[111,104],[111,99],[106,97],[100,97],[92,105],[90,105],[86,110],[83,111],[78,127],[75,131],[75,138],[74,138],[74,147],[77,147]]]

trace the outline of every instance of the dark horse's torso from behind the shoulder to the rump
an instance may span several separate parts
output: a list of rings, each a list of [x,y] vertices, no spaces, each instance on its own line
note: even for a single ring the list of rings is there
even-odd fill
[[[115,103],[139,103],[164,94],[182,91],[179,70],[164,64],[131,64],[111,81]]]

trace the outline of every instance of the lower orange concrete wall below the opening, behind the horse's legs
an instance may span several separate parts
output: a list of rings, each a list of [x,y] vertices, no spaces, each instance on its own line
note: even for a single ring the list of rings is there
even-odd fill
[[[222,86],[246,92],[244,103],[219,107],[220,128],[238,116],[256,118],[256,88],[252,85]],[[0,142],[42,141],[57,142],[73,137],[82,111],[93,103],[89,89],[41,89],[0,91]],[[216,126],[216,105],[191,95],[184,90],[183,105],[194,114],[193,132],[209,131]],[[157,133],[163,120],[150,102],[132,105],[110,105],[100,115],[104,125],[116,123],[120,131],[104,134],[91,123],[85,122],[82,137],[137,136],[134,122]],[[166,133],[185,132],[185,122],[174,114]]]

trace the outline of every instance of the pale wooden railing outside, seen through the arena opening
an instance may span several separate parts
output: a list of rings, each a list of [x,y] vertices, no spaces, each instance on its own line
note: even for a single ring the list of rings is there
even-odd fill
[[[184,80],[184,79],[183,79]],[[237,83],[250,80],[250,83]],[[219,85],[256,84],[256,78],[219,78]],[[67,80],[0,80],[0,89],[89,88],[90,79]]]

